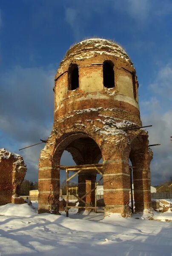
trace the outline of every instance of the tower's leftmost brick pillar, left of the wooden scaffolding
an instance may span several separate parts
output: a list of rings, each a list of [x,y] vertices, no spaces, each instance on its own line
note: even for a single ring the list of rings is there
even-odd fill
[[[52,156],[40,157],[38,190],[38,212],[52,212],[58,214],[60,170],[54,167]]]

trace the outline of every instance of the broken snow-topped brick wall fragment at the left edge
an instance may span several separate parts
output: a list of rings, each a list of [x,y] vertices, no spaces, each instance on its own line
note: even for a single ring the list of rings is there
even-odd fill
[[[22,156],[0,149],[0,205],[21,203],[17,197],[26,174]],[[15,197],[18,199],[15,200]]]

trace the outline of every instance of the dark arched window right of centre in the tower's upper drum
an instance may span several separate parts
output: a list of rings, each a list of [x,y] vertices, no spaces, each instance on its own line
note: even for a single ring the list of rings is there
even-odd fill
[[[106,88],[115,87],[114,64],[111,61],[103,62],[103,85]]]

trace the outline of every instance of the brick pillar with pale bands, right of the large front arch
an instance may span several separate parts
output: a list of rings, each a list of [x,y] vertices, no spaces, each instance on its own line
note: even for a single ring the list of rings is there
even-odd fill
[[[129,209],[129,147],[103,148],[103,189],[105,215],[109,212],[130,214]]]

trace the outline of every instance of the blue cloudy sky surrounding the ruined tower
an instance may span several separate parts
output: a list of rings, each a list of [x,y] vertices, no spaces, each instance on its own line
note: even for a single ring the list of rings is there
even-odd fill
[[[134,62],[143,125],[154,159],[152,185],[172,176],[172,1],[1,0],[0,147],[21,153],[27,179],[37,180],[52,129],[54,74],[69,47],[83,38],[114,39]],[[63,154],[62,164],[72,164]]]

